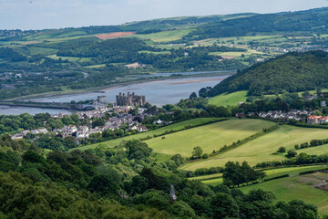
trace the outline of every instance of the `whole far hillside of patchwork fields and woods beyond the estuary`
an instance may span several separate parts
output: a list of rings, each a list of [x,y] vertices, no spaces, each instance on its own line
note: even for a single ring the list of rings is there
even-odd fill
[[[15,86],[1,89],[0,99],[93,89],[131,81],[138,74],[242,70],[288,51],[327,49],[327,12],[319,8],[0,30],[0,84]]]

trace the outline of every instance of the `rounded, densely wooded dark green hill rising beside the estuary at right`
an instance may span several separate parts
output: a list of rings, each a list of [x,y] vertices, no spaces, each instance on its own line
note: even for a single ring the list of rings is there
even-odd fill
[[[288,53],[253,65],[213,89],[201,89],[201,96],[213,97],[224,92],[248,90],[249,95],[296,92],[328,88],[328,53],[311,51]]]

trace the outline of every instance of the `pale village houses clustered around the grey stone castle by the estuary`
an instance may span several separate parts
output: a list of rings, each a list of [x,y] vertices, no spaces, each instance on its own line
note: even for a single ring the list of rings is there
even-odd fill
[[[104,98],[105,96],[99,96],[98,99],[102,99],[102,104],[105,104]],[[38,129],[38,130],[23,130],[20,133],[12,135],[11,138],[13,140],[23,139],[27,133],[32,133],[34,135],[37,134],[46,134],[49,132],[53,132],[56,136],[61,138],[66,138],[67,136],[73,136],[77,138],[77,140],[87,139],[91,134],[102,133],[104,130],[119,130],[128,127],[127,130],[135,130],[137,132],[148,131],[146,126],[140,123],[140,120],[143,120],[145,117],[152,117],[153,114],[148,113],[146,108],[143,106],[146,103],[145,96],[138,96],[134,93],[130,94],[128,92],[128,96],[125,94],[119,94],[117,96],[117,102],[115,106],[105,105],[98,106],[95,110],[88,111],[77,111],[76,114],[79,120],[86,120],[86,125],[80,126],[65,126],[61,129],[54,130],[46,130],[46,128]],[[119,105],[117,105],[119,104]],[[138,107],[138,115],[133,116],[128,113],[129,110],[135,110]],[[106,121],[104,126],[96,126],[92,128],[93,120],[97,118],[104,118],[106,114],[110,115],[110,118]],[[59,113],[51,115],[55,119],[67,117],[68,113]],[[158,125],[167,125],[170,124],[170,121],[155,121]]]

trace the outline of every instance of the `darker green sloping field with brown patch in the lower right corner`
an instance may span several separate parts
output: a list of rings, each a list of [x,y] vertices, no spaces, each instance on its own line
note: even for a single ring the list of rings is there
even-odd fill
[[[327,178],[328,174],[324,174]],[[261,188],[266,191],[272,191],[277,200],[292,201],[300,199],[305,203],[314,203],[319,207],[319,212],[328,210],[328,192],[316,189],[313,186],[323,183],[322,180],[317,179],[316,173],[305,175],[282,178],[273,180],[266,183],[253,184],[241,188],[243,193],[249,193],[251,189]]]

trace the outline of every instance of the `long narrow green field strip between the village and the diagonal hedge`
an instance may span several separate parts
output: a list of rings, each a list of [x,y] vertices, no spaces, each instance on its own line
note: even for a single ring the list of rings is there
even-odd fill
[[[98,144],[105,144],[107,147],[114,147],[114,146],[118,146],[121,141],[146,138],[147,136],[153,136],[154,134],[161,134],[161,133],[165,132],[166,130],[183,130],[184,127],[187,125],[201,125],[201,124],[204,124],[207,122],[220,121],[220,120],[222,120],[222,119],[221,118],[198,118],[198,119],[193,119],[193,120],[185,120],[185,121],[181,121],[181,122],[169,125],[169,126],[159,128],[158,130],[150,130],[147,132],[130,135],[130,136],[127,136],[124,138],[119,138],[119,139],[110,140],[110,141],[104,141],[104,142],[100,142],[97,144],[91,144],[91,145],[79,147],[78,149],[79,150],[87,150],[87,149],[97,147]]]

